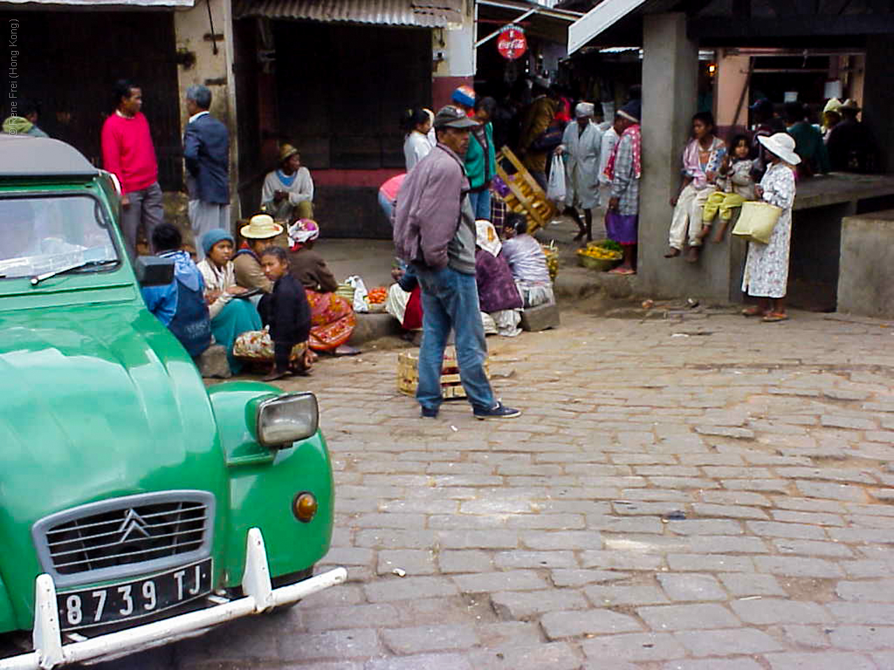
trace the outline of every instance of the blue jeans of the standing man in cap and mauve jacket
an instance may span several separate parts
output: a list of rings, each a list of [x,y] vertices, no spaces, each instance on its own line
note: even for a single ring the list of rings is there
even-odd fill
[[[416,399],[425,409],[441,406],[441,370],[451,327],[456,339],[462,388],[473,407],[490,409],[496,402],[485,375],[485,329],[481,324],[474,274],[450,267],[432,270],[417,266],[422,285],[422,347],[419,348],[419,386]]]

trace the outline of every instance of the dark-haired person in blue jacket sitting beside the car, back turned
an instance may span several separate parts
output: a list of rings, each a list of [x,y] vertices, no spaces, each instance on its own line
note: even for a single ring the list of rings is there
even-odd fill
[[[190,356],[201,355],[211,346],[211,317],[205,304],[205,281],[190,255],[181,250],[180,230],[161,223],[152,230],[156,255],[173,260],[173,281],[166,286],[140,289],[149,312],[180,340]]]

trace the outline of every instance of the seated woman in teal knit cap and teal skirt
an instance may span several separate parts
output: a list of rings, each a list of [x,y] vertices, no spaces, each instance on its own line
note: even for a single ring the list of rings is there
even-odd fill
[[[235,240],[221,228],[208,230],[200,244],[205,259],[198,264],[205,280],[205,301],[211,316],[211,332],[215,341],[226,348],[227,362],[233,374],[239,374],[242,364],[232,354],[232,345],[243,332],[261,330],[261,319],[255,306],[240,295],[247,289],[236,284],[236,269],[232,257]]]

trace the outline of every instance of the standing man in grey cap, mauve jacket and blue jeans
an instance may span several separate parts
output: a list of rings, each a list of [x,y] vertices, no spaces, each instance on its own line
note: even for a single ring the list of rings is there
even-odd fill
[[[468,202],[463,156],[477,125],[448,105],[434,117],[438,144],[401,185],[394,221],[397,254],[413,265],[422,286],[422,347],[416,398],[422,416],[438,415],[444,348],[456,335],[460,380],[477,419],[521,415],[493,398],[485,375],[485,331],[475,282],[475,215]]]

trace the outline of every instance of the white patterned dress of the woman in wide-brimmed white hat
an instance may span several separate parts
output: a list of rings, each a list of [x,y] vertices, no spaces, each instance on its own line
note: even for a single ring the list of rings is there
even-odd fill
[[[761,180],[763,201],[782,210],[769,244],[748,242],[742,290],[754,297],[785,297],[789,284],[791,207],[795,204],[795,172],[786,163],[767,168]]]

